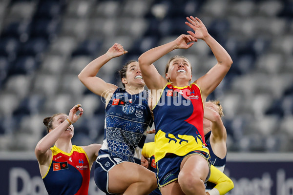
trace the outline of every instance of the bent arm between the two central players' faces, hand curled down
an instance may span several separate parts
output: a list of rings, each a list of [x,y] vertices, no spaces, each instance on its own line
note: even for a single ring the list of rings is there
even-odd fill
[[[167,80],[159,74],[153,62],[174,49],[188,49],[194,44],[192,41],[197,41],[197,39],[190,35],[180,35],[177,39],[152,48],[139,57],[138,63],[148,89],[162,89],[167,83]]]

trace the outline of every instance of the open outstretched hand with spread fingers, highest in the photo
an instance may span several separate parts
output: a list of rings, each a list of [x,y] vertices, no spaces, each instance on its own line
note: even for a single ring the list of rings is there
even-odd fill
[[[189,22],[185,22],[186,25],[188,25],[190,28],[194,30],[192,31],[187,31],[188,34],[190,34],[192,37],[195,39],[205,39],[209,37],[208,30],[205,26],[205,24],[197,17],[190,16],[186,18]]]

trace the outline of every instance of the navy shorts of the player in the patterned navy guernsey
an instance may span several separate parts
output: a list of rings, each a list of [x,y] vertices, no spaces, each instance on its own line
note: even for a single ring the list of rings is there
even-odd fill
[[[126,162],[117,156],[98,157],[95,165],[95,183],[100,190],[106,193],[106,195],[115,195],[108,192],[109,174],[108,172],[117,164]]]

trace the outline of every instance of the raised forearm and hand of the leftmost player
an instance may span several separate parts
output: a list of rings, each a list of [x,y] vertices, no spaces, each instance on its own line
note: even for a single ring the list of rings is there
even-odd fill
[[[76,112],[80,111],[80,114],[77,116]],[[66,131],[66,129],[73,123],[75,123],[82,115],[84,109],[81,107],[81,104],[75,105],[69,112],[68,120],[64,120],[58,127],[50,131],[45,137],[43,137],[37,144],[35,148],[35,155],[40,164],[43,164],[48,157],[50,156],[50,147],[55,144],[57,139],[61,134]],[[71,124],[70,124],[71,123]]]

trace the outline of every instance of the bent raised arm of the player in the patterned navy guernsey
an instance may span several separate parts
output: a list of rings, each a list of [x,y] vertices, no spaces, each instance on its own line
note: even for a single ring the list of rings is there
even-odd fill
[[[110,59],[122,56],[126,54],[127,51],[123,49],[121,44],[115,43],[108,51],[97,59],[94,59],[89,64],[87,64],[82,72],[78,75],[78,78],[82,81],[84,86],[86,86],[93,93],[106,98],[106,92],[114,91],[117,86],[111,83],[106,83],[102,78],[96,77],[100,68],[105,65]]]

